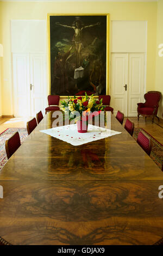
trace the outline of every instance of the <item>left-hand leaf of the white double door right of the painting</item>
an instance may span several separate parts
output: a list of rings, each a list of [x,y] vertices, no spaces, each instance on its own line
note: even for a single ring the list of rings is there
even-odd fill
[[[128,83],[128,54],[111,54],[111,102],[114,113],[118,110],[127,115],[128,95],[125,85]]]

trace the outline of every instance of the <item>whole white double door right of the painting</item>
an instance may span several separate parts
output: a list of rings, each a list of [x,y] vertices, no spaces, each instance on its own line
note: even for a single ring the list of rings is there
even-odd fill
[[[145,91],[144,53],[112,53],[110,106],[126,117],[137,116],[137,103],[142,102]]]

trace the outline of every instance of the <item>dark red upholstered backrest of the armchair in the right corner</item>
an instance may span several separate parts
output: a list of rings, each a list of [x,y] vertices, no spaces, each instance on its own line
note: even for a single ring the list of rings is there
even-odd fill
[[[145,94],[145,106],[146,107],[154,107],[159,106],[159,101],[161,99],[161,93],[157,91],[149,91]]]

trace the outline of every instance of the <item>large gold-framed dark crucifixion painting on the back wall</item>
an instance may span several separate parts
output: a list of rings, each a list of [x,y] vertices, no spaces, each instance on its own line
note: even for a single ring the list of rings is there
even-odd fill
[[[50,94],[105,95],[109,14],[48,14]]]

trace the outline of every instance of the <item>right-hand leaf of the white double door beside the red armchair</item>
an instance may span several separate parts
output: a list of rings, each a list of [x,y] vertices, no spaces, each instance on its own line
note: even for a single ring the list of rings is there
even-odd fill
[[[137,103],[143,101],[144,53],[129,53],[128,117],[137,116]]]

